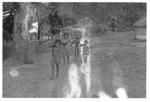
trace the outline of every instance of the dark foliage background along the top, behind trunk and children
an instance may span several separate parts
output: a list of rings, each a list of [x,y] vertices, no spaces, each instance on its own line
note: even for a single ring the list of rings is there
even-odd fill
[[[53,11],[63,18],[64,27],[76,24],[81,18],[88,17],[93,22],[93,33],[101,34],[111,30],[112,19],[115,19],[117,31],[133,30],[133,24],[146,15],[146,3],[31,3],[37,8],[39,24],[48,23],[48,16]],[[5,45],[14,40],[14,35],[21,36],[21,27],[17,14],[23,11],[19,2],[3,2],[3,41]],[[5,16],[11,14],[11,16]],[[22,16],[20,16],[22,17]],[[16,30],[14,30],[16,29]],[[21,38],[21,37],[20,37]],[[7,42],[7,44],[5,44]],[[19,41],[17,41],[19,42]],[[12,42],[10,42],[11,45]],[[12,47],[12,46],[11,46]],[[7,53],[6,53],[7,55]]]

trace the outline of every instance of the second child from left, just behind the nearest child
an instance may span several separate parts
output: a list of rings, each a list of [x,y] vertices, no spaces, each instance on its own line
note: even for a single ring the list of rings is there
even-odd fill
[[[64,60],[64,64],[66,63],[66,59],[67,59],[67,63],[69,63],[69,55],[71,53],[70,49],[71,49],[71,41],[69,40],[68,37],[68,33],[64,34],[64,39],[62,39],[62,49],[63,49],[63,60]]]

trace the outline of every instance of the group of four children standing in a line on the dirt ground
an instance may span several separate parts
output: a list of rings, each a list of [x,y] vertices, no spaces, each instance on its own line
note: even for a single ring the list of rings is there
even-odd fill
[[[70,56],[74,53],[74,58],[79,59],[80,47],[83,48],[82,58],[84,63],[87,62],[87,57],[89,55],[88,41],[85,40],[83,44],[80,44],[80,38],[76,37],[74,40],[70,40],[69,34],[64,33],[62,39],[54,40],[54,43],[49,47],[52,48],[51,65],[52,65],[52,77],[58,77],[60,63],[63,60],[64,64],[66,62],[69,64]],[[56,71],[55,71],[56,70]]]

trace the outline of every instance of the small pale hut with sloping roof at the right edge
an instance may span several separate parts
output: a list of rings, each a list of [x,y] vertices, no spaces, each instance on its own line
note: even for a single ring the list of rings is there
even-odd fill
[[[146,40],[146,15],[134,23],[136,39]]]

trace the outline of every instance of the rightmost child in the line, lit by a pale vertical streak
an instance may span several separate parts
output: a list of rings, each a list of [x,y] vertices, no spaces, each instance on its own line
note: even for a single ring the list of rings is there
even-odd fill
[[[84,44],[81,44],[80,47],[83,47],[83,54],[82,54],[82,57],[83,57],[83,60],[84,60],[84,63],[87,63],[87,57],[89,55],[89,47],[88,47],[88,41],[85,40],[84,41]]]

